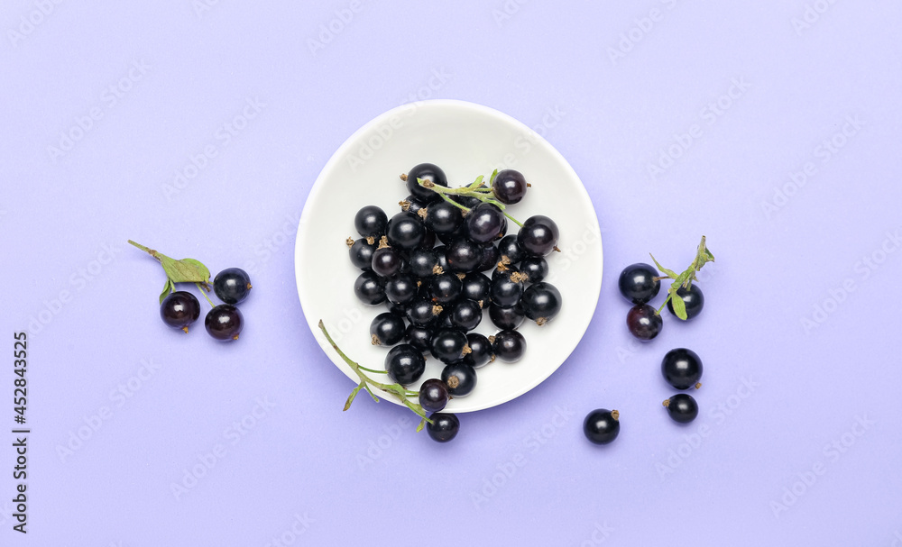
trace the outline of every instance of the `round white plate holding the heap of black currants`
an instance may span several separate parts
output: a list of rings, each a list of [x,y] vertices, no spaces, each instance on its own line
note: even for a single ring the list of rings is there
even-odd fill
[[[369,327],[387,308],[363,305],[354,296],[360,270],[348,260],[345,239],[358,237],[354,214],[364,205],[379,205],[390,218],[400,212],[398,202],[408,192],[398,176],[426,161],[444,169],[452,187],[473,182],[478,175],[487,179],[492,169],[518,169],[532,187],[508,213],[520,222],[546,214],[560,228],[558,247],[563,252],[547,257],[547,280],[563,296],[561,313],[542,327],[529,320],[521,325],[527,342],[523,359],[511,364],[496,360],[477,369],[473,393],[452,399],[446,411],[501,405],[538,386],[566,360],[592,320],[602,285],[598,219],[583,184],[548,141],[510,116],[462,101],[425,101],[392,109],[351,135],[319,174],[300,217],[295,246],[300,303],[323,351],[354,383],[354,372],[320,332],[320,319],[351,359],[383,369],[387,350],[370,343]],[[516,230],[517,225],[509,223],[509,233]],[[487,311],[475,332],[497,332]],[[437,378],[441,369],[441,363],[428,356],[421,379]],[[348,383],[347,391],[353,387]],[[410,388],[419,388],[419,382]],[[336,395],[336,403],[341,397],[345,394]],[[371,403],[361,394],[355,404]]]

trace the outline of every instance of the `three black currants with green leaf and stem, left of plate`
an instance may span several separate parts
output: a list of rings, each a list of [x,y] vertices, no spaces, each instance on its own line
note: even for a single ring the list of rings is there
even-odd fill
[[[209,269],[198,260],[173,260],[131,240],[129,243],[159,260],[166,272],[166,285],[160,296],[160,317],[163,323],[188,333],[188,327],[200,317],[200,302],[197,296],[188,291],[175,290],[175,284],[194,283],[212,308],[204,319],[207,333],[216,340],[238,340],[238,335],[244,328],[244,315],[235,305],[244,301],[251,291],[251,278],[244,269],[226,268],[216,274],[213,291],[225,304],[214,305],[207,296]]]

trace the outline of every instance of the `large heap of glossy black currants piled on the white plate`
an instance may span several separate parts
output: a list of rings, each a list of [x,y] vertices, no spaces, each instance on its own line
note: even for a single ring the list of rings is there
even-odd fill
[[[526,340],[517,330],[527,318],[546,324],[561,309],[561,294],[543,279],[548,253],[557,250],[557,224],[529,217],[508,235],[504,212],[526,195],[526,179],[505,169],[468,186],[449,188],[445,172],[422,163],[401,179],[410,196],[391,218],[376,205],[354,216],[360,238],[348,238],[351,262],[363,272],[354,294],[365,305],[386,305],[370,324],[374,345],[391,347],[385,357],[389,378],[413,384],[426,369],[426,355],[444,364],[441,378],[419,389],[419,405],[429,416],[429,435],[450,441],[459,429],[455,415],[443,414],[451,397],[476,387],[476,369],[498,359],[520,360]],[[486,275],[483,272],[491,272]],[[474,333],[488,310],[499,332]],[[396,345],[397,344],[397,345]]]

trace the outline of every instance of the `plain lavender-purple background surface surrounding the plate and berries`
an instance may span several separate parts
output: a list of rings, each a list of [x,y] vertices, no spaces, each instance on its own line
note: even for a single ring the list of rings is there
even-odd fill
[[[897,3],[203,1],[0,8],[0,542],[902,542]],[[605,265],[571,358],[447,445],[398,406],[341,412],[353,384],[303,321],[293,260],[333,151],[437,97],[544,134],[592,196]],[[617,274],[649,251],[682,269],[703,233],[704,314],[639,347]],[[129,238],[251,270],[241,340],[161,324],[161,269]],[[685,427],[660,406],[676,346],[705,365]],[[621,411],[607,447],[581,430],[599,406]]]

